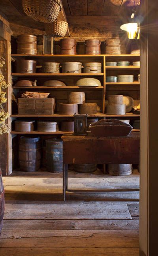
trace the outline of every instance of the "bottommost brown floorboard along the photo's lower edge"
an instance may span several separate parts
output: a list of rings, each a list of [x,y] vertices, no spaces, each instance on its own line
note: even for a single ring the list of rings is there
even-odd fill
[[[0,248],[3,256],[139,256],[139,248]]]

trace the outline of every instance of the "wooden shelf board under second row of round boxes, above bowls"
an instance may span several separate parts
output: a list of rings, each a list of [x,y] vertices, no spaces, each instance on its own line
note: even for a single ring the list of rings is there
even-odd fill
[[[103,73],[11,73],[18,77],[67,77],[67,76],[103,76]]]

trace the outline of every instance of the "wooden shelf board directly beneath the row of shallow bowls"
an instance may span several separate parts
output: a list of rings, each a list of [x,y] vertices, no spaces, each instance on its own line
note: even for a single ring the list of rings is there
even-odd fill
[[[81,90],[92,90],[92,89],[103,89],[103,86],[98,86],[98,87],[79,87],[79,86],[13,86],[13,89],[81,89]]]

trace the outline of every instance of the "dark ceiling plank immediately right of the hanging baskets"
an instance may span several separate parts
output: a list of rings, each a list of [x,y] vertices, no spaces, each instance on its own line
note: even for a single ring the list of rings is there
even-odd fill
[[[87,15],[87,0],[68,0],[71,15]]]

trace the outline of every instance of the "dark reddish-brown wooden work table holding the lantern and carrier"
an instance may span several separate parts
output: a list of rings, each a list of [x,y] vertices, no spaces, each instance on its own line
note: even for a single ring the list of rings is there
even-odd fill
[[[139,132],[128,137],[64,134],[63,200],[68,190],[68,164],[139,164]]]

